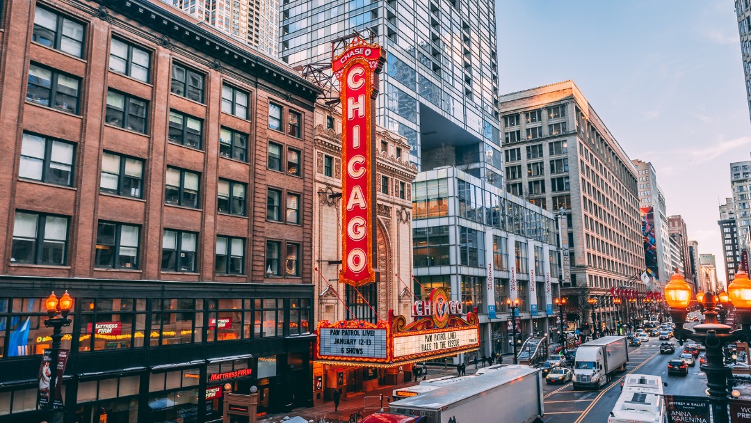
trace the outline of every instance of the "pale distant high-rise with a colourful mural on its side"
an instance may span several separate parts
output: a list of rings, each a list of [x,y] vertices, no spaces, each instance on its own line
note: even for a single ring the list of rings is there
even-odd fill
[[[644,264],[654,290],[662,287],[673,273],[670,266],[668,241],[668,215],[665,211],[665,194],[657,184],[657,174],[650,162],[632,160],[636,168],[639,190],[641,225],[644,232]]]

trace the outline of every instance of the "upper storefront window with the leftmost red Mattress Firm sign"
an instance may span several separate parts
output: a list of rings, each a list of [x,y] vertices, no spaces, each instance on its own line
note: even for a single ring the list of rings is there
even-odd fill
[[[142,347],[146,299],[84,298],[79,320],[79,351]]]

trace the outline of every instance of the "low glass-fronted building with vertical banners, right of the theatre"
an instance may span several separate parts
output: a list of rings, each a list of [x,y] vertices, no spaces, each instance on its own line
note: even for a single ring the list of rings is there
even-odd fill
[[[478,355],[511,351],[507,298],[520,301],[520,340],[556,339],[560,261],[553,213],[449,166],[418,174],[412,204],[415,294],[426,298],[431,289],[446,288],[464,310],[476,308]]]

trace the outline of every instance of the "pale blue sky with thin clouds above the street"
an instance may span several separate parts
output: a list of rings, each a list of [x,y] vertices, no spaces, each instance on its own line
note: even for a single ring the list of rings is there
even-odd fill
[[[734,2],[496,0],[496,24],[501,94],[573,80],[724,280],[718,206],[751,158]]]

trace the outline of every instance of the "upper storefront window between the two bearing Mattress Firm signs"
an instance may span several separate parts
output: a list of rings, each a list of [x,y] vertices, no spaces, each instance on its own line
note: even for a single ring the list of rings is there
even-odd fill
[[[200,310],[203,309],[204,300],[167,299],[153,301],[151,345],[201,342],[204,313],[201,313]]]

